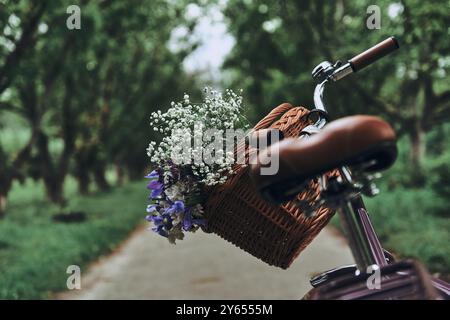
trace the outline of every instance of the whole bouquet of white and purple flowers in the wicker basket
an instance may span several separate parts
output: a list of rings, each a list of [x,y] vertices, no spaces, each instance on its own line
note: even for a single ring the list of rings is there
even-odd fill
[[[241,108],[240,94],[205,88],[202,103],[192,103],[185,94],[166,112],[152,114],[150,124],[163,138],[147,148],[155,168],[146,176],[151,191],[146,219],[171,243],[206,223],[202,206],[206,188],[224,183],[233,173],[230,137],[244,127]],[[230,131],[232,135],[224,134]]]

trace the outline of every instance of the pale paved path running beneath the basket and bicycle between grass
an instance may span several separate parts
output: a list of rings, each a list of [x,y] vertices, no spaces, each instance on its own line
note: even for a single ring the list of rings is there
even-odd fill
[[[139,228],[84,271],[82,288],[57,299],[299,299],[311,275],[352,263],[345,240],[325,228],[288,270],[270,267],[213,234],[173,246]]]

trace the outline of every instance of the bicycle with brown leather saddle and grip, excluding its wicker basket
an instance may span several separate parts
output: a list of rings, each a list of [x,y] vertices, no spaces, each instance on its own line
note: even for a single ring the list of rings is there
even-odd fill
[[[298,205],[311,216],[321,206],[339,212],[355,264],[325,271],[310,280],[311,299],[449,299],[450,284],[428,275],[416,261],[396,262],[383,247],[372,226],[362,196],[375,196],[374,179],[396,160],[396,135],[392,127],[374,116],[356,115],[329,121],[324,103],[327,84],[355,73],[399,48],[390,37],[347,63],[324,61],[312,72],[317,120],[303,129],[298,139],[286,138],[269,145],[251,165],[250,176],[267,201],[281,204],[292,200],[311,179],[318,179],[319,199]],[[279,170],[262,175],[261,163],[278,155]],[[339,175],[327,179],[325,173]],[[379,288],[368,288],[371,274],[380,274]]]

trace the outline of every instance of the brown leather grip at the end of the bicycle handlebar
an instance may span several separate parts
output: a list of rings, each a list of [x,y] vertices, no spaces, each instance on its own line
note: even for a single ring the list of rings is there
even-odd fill
[[[390,37],[351,58],[349,63],[352,66],[353,72],[357,72],[398,48],[397,40],[394,37]]]

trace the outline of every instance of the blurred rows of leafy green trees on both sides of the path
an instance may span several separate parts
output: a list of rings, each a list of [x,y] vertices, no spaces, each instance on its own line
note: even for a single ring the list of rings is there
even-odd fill
[[[427,175],[442,181],[450,172],[448,1],[379,1],[379,30],[366,27],[364,0],[83,0],[81,30],[66,27],[69,5],[0,2],[0,212],[14,181],[42,181],[63,205],[68,175],[81,194],[91,183],[108,190],[107,172],[118,184],[142,177],[149,114],[212,81],[183,66],[199,45],[190,36],[201,13],[186,15],[193,5],[223,13],[236,44],[221,86],[244,89],[254,122],[283,101],[311,107],[316,64],[395,35],[401,50],[329,89],[330,112],[377,114],[394,125],[408,145],[394,185],[424,186]],[[174,49],[179,28],[185,35]],[[427,154],[440,160],[428,165]]]

